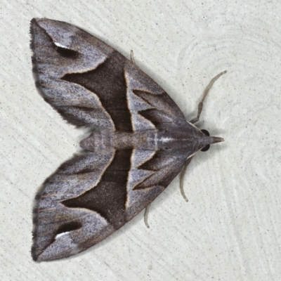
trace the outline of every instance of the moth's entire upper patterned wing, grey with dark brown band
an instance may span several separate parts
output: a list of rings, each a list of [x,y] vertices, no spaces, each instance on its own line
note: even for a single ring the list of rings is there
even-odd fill
[[[32,20],[30,33],[37,88],[68,122],[130,132],[186,124],[155,81],[88,32],[43,18]]]

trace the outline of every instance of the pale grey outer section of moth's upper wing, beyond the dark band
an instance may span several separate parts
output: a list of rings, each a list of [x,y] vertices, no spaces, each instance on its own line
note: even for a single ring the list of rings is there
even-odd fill
[[[34,18],[30,33],[33,73],[44,100],[71,124],[115,129],[95,93],[63,79],[66,74],[95,69],[114,50],[66,22]]]

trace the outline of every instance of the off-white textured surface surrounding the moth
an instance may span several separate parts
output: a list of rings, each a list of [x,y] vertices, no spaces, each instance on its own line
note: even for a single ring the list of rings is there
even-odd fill
[[[6,1],[0,3],[0,280],[281,280],[280,1]],[[150,207],[71,259],[34,263],[32,204],[84,131],[39,96],[34,17],[84,28],[136,63],[187,119],[210,79],[200,128],[226,142],[197,155]]]

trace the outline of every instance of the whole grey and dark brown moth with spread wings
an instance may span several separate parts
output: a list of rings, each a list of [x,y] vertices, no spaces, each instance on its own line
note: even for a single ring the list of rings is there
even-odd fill
[[[46,178],[35,197],[32,258],[51,261],[114,233],[195,153],[223,138],[193,124],[207,91],[197,117],[187,122],[155,81],[84,30],[34,18],[30,33],[39,93],[67,122],[91,129],[80,142],[83,152]]]

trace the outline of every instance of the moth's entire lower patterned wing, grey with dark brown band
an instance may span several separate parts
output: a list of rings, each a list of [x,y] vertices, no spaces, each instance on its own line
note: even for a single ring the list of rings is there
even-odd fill
[[[146,150],[89,152],[62,164],[36,197],[33,259],[63,259],[84,251],[152,202],[182,164],[173,155],[169,161],[158,155],[141,167],[147,157]]]

